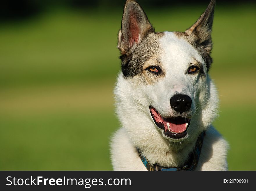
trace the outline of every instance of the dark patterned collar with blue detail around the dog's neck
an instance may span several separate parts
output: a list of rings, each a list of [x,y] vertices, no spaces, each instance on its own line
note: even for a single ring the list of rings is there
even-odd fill
[[[202,149],[202,144],[203,144],[203,140],[204,140],[204,136],[205,136],[205,131],[203,131],[195,144],[195,150],[193,152],[191,152],[189,154],[189,159],[187,160],[187,162],[185,163],[185,165],[183,167],[163,167],[161,165],[158,164],[150,164],[149,161],[146,159],[146,157],[144,157],[141,154],[141,151],[139,148],[137,148],[138,154],[141,158],[141,161],[143,162],[143,164],[145,165],[145,167],[147,168],[147,170],[149,171],[178,171],[178,170],[195,170],[197,164],[198,164],[198,160],[199,160],[199,156],[200,156],[200,152]]]

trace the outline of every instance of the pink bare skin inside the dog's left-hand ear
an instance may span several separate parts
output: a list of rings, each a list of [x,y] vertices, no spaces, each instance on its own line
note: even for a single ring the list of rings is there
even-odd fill
[[[139,32],[140,32],[138,21],[133,14],[131,14],[130,16],[129,30],[130,30],[129,43],[130,43],[130,46],[132,47],[135,42],[137,43],[139,41]]]

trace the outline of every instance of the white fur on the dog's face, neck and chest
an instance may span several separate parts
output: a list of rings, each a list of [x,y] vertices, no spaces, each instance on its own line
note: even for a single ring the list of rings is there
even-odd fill
[[[145,84],[136,76],[126,79],[122,73],[118,76],[114,93],[122,128],[112,137],[113,169],[147,170],[136,147],[152,164],[181,167],[193,150],[200,132],[207,130],[196,170],[227,170],[228,144],[211,126],[218,108],[216,88],[209,76],[198,78],[186,74],[189,63],[193,63],[194,59],[203,64],[205,73],[206,64],[195,48],[172,32],[164,32],[159,44],[161,64],[165,71],[162,79]],[[162,116],[172,115],[170,98],[177,92],[192,99],[188,135],[181,140],[163,135],[163,130],[155,125],[149,110],[149,105],[153,105]]]

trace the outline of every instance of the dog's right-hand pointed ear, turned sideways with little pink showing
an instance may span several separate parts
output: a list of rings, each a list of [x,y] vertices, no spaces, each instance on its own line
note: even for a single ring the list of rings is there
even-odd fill
[[[209,54],[212,48],[211,28],[213,23],[215,0],[211,0],[205,12],[189,29],[185,31],[187,35],[195,35],[196,41]]]

